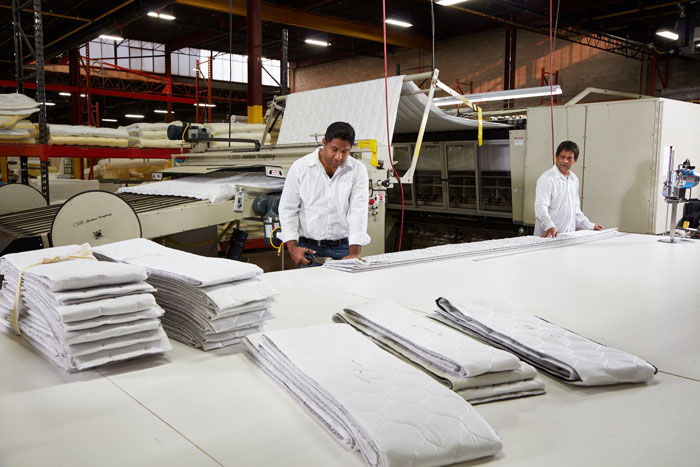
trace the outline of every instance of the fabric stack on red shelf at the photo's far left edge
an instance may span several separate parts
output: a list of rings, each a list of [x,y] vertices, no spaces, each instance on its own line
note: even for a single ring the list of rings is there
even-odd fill
[[[25,120],[39,111],[39,103],[24,94],[0,94],[0,141],[35,143],[36,127]]]

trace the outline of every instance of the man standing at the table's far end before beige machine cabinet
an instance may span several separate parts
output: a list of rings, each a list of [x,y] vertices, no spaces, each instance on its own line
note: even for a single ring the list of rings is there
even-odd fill
[[[554,166],[537,179],[535,235],[556,237],[580,230],[603,230],[581,211],[578,177],[571,168],[578,161],[578,145],[564,141],[557,148]]]

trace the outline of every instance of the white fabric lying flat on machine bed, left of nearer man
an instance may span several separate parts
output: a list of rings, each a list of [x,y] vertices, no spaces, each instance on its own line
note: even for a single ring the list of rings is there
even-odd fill
[[[142,195],[186,196],[189,198],[208,199],[210,202],[216,203],[233,198],[238,185],[281,190],[284,186],[284,179],[266,177],[259,173],[239,173],[236,175],[214,173],[122,187],[117,192]]]

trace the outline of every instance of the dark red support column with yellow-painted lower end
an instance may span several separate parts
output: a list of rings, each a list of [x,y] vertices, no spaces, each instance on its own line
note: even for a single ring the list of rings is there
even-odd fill
[[[248,0],[248,123],[262,123],[262,0]]]

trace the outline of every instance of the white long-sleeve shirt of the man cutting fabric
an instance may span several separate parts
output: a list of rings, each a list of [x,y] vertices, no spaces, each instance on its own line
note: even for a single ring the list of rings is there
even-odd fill
[[[350,245],[367,245],[367,169],[349,156],[329,177],[318,157],[320,149],[295,161],[287,172],[279,205],[280,238],[347,238]]]

